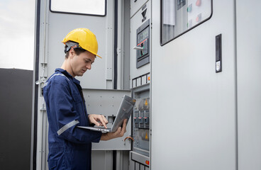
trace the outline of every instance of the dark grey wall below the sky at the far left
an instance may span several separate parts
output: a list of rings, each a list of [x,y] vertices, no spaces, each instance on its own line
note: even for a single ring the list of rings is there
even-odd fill
[[[0,169],[30,169],[33,71],[0,69]]]

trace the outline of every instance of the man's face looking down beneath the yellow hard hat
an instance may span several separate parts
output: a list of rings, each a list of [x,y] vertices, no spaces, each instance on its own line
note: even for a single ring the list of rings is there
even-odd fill
[[[82,52],[79,55],[76,55],[74,52],[72,55],[72,77],[79,76],[81,77],[87,69],[91,69],[91,64],[94,63],[95,55],[91,52]]]

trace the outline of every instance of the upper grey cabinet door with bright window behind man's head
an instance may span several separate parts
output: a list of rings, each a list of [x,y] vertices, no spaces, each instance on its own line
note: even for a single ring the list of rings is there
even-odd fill
[[[112,80],[113,3],[106,3],[106,0],[96,3],[99,5],[93,7],[89,7],[93,4],[91,1],[79,0],[73,3],[69,0],[45,0],[41,3],[43,11],[40,33],[43,36],[41,42],[45,45],[40,47],[45,47],[45,53],[42,53],[45,59],[40,56],[40,62],[47,63],[45,75],[49,77],[56,68],[61,67],[65,59],[65,45],[61,41],[67,33],[75,28],[88,28],[96,35],[99,44],[98,54],[103,58],[97,57],[91,70],[77,79],[81,81],[83,89],[107,89],[107,80]],[[89,13],[90,15],[87,15]]]

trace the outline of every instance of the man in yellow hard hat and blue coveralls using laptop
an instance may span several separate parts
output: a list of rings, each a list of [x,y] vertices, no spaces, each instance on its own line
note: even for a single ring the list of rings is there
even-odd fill
[[[49,169],[91,169],[91,142],[122,137],[123,128],[116,132],[101,133],[77,128],[99,125],[106,128],[104,115],[89,115],[82,87],[76,76],[91,69],[98,52],[96,36],[87,28],[72,30],[65,39],[65,61],[46,81],[43,88],[49,122]]]

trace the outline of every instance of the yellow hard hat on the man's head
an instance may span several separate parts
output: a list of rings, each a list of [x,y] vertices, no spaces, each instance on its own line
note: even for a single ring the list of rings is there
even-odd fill
[[[82,47],[84,50],[87,50],[101,58],[101,56],[97,55],[98,42],[96,40],[96,36],[91,32],[91,30],[87,28],[76,28],[68,33],[62,40],[65,45],[68,41],[77,42],[79,47]]]

